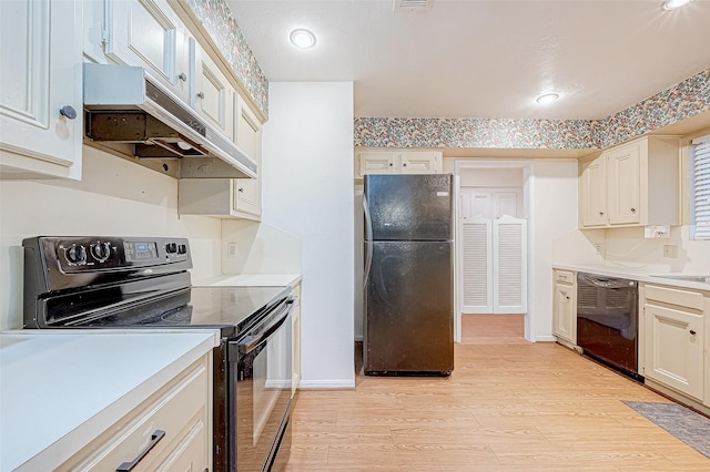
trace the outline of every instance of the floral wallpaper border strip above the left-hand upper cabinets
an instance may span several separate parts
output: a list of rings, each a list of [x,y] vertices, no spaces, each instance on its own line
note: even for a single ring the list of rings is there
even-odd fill
[[[232,65],[236,78],[252,95],[254,103],[268,119],[268,81],[258,65],[246,39],[225,0],[185,0],[202,21],[224,59]]]

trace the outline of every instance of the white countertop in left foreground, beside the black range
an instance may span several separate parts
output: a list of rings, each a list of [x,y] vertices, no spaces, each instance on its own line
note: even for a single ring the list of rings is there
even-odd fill
[[[52,470],[219,342],[216,330],[1,332],[0,470]]]

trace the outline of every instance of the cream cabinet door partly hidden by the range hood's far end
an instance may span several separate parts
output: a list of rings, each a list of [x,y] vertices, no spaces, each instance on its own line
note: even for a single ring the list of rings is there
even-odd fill
[[[235,178],[234,209],[237,212],[262,214],[262,125],[241,95],[236,94],[234,137],[236,145],[260,165],[258,178]]]

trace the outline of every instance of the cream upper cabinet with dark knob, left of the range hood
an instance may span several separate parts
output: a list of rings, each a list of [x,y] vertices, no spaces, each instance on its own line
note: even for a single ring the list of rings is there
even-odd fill
[[[0,176],[81,178],[82,8],[0,1]]]

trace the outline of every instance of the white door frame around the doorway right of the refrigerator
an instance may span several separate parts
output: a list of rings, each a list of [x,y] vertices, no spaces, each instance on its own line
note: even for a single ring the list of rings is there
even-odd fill
[[[455,244],[455,255],[454,255],[454,304],[456,306],[455,317],[454,317],[454,339],[456,342],[462,341],[462,274],[459,267],[459,257],[462,254],[462,235],[460,235],[460,225],[459,225],[459,215],[460,215],[460,171],[464,168],[521,168],[523,170],[523,218],[527,218],[528,220],[528,239],[527,239],[527,280],[528,280],[528,311],[525,314],[524,322],[524,335],[525,339],[528,341],[535,342],[535,279],[530,277],[530,264],[531,259],[531,247],[535,246],[535,220],[530,211],[532,207],[532,186],[535,185],[535,179],[531,178],[534,175],[534,163],[531,161],[521,161],[521,160],[496,160],[496,158],[487,158],[487,157],[460,157],[454,160],[454,220],[456,222],[454,227],[454,238],[456,240]]]

